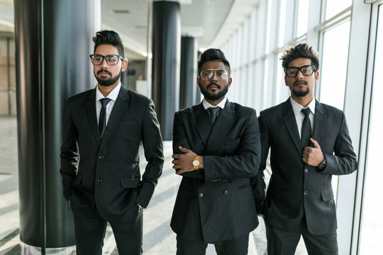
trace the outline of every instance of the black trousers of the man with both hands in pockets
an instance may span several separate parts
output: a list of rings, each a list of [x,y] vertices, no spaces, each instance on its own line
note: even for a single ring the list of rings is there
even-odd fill
[[[74,235],[77,255],[101,255],[107,221],[96,208],[87,217],[74,214]],[[143,253],[143,213],[133,204],[120,220],[110,221],[118,254]]]

